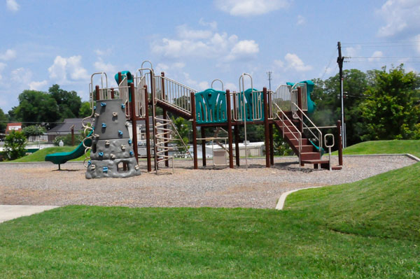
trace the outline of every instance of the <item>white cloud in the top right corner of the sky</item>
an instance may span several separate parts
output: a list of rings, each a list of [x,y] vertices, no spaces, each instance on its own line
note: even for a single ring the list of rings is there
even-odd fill
[[[388,0],[377,10],[385,20],[385,25],[378,30],[378,36],[387,37],[403,31],[419,31],[420,1]]]

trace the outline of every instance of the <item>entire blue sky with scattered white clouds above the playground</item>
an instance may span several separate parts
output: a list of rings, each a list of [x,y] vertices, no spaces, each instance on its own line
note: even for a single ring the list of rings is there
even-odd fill
[[[0,0],[1,1],[1,0]],[[0,2],[0,108],[18,106],[23,90],[58,84],[89,99],[90,76],[155,73],[195,90],[223,80],[238,90],[271,87],[344,69],[405,64],[420,71],[419,0],[183,0]],[[251,87],[246,79],[246,87]],[[217,88],[220,85],[216,85]]]

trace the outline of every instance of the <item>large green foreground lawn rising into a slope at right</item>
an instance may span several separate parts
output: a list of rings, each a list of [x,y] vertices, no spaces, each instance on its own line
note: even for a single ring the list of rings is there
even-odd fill
[[[420,163],[286,210],[67,206],[0,224],[0,278],[420,278]]]

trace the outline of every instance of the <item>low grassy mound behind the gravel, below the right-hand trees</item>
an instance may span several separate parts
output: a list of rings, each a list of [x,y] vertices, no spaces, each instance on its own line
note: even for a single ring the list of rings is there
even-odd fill
[[[344,148],[344,155],[367,155],[367,154],[402,154],[409,153],[420,157],[420,140],[407,141],[365,141]],[[336,152],[332,152],[337,155]]]

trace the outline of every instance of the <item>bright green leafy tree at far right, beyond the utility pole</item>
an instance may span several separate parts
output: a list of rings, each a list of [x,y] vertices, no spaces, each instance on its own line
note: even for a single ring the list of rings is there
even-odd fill
[[[420,78],[405,73],[403,65],[374,72],[374,85],[367,90],[361,112],[364,141],[420,138],[420,108],[417,103]]]

